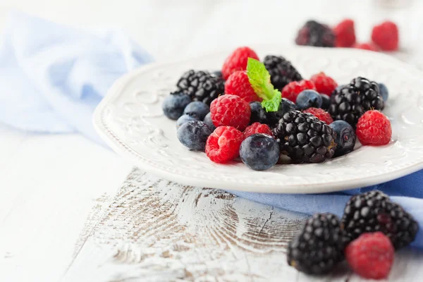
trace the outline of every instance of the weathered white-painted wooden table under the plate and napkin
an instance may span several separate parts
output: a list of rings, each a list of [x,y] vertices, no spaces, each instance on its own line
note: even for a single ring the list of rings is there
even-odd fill
[[[309,17],[353,17],[364,40],[391,13],[373,1],[264,2],[1,1],[0,30],[11,8],[78,27],[118,26],[165,61],[289,44]],[[411,23],[413,15],[390,17]],[[403,59],[415,56],[412,38],[403,40]],[[287,266],[286,244],[302,216],[145,175],[80,135],[0,125],[0,159],[0,281],[361,281],[349,271],[313,278]],[[421,281],[422,262],[422,252],[403,250],[390,280]]]

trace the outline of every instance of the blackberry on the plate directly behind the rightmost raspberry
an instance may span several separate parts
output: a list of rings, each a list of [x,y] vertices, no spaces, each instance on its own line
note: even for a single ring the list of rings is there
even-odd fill
[[[379,85],[367,78],[358,77],[351,80],[349,85],[334,90],[328,111],[335,121],[346,121],[355,128],[360,116],[371,109],[384,109]]]

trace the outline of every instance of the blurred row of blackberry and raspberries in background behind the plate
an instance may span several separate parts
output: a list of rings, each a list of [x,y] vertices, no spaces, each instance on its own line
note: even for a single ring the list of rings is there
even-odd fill
[[[354,21],[349,18],[333,28],[315,20],[309,20],[298,30],[295,43],[315,47],[353,47],[370,51],[396,51],[399,44],[399,32],[395,23],[385,21],[373,27],[371,42],[357,43]]]

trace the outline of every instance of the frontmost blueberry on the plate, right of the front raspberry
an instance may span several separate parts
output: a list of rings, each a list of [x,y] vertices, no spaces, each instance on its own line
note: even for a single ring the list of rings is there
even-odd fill
[[[240,157],[243,163],[255,171],[274,166],[279,159],[278,142],[266,134],[254,134],[241,143]]]

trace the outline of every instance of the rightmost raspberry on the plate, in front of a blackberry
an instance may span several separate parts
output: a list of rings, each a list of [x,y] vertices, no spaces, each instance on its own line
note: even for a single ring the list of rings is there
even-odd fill
[[[366,111],[357,123],[358,140],[362,145],[386,145],[391,141],[391,122],[380,111]]]

